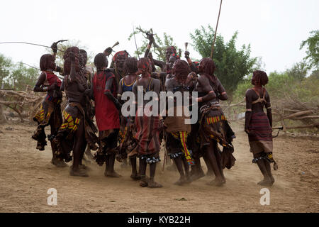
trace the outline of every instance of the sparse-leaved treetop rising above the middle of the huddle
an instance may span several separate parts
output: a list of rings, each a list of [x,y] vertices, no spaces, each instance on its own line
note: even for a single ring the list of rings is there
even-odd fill
[[[150,29],[150,31],[146,31],[145,29],[142,29],[139,27],[135,28],[135,31],[133,33],[130,34],[130,36],[128,37],[128,40],[131,40],[132,38],[134,38],[134,35],[142,35],[142,37],[144,37],[145,39],[142,40],[142,45],[140,46],[140,48],[138,48],[138,50],[135,50],[134,54],[135,57],[138,57],[138,55],[140,57],[144,57],[144,53],[145,50],[147,48],[147,44],[148,44],[148,40],[147,40],[147,33],[152,33],[152,29]],[[153,55],[153,57],[155,57],[155,59],[157,60],[162,60],[162,61],[166,61],[165,60],[165,52],[166,52],[166,48],[169,46],[174,46],[177,50],[179,50],[179,48],[177,48],[177,45],[174,43],[174,40],[172,38],[172,36],[167,35],[167,33],[163,34],[163,38],[160,38],[157,34],[154,35],[154,39],[155,39],[155,43],[153,43],[152,48],[151,48],[151,52],[155,53],[155,56]]]

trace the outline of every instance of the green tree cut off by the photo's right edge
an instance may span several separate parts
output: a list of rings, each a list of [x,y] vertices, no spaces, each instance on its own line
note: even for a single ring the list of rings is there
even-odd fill
[[[307,61],[308,67],[319,70],[319,30],[311,31],[310,37],[301,43],[300,49],[305,46],[307,56],[304,60]]]

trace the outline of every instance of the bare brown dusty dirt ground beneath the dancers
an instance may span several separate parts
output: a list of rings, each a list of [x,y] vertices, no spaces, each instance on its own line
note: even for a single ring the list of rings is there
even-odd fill
[[[33,123],[0,125],[0,212],[318,212],[319,140],[279,135],[274,139],[274,158],[279,170],[270,191],[270,205],[262,206],[257,185],[262,179],[252,164],[247,136],[233,126],[237,159],[225,170],[223,187],[206,185],[203,177],[186,186],[174,185],[178,173],[157,167],[159,189],[141,188],[130,179],[130,167],[116,162],[122,177],[106,178],[104,166],[91,162],[89,177],[72,177],[69,168],[50,163],[50,145],[35,149]],[[164,154],[161,152],[163,160]],[[71,165],[69,162],[68,165]],[[204,166],[204,162],[202,162]],[[206,170],[206,167],[203,167]],[[148,168],[147,168],[148,172]],[[47,190],[57,189],[57,206],[47,205]],[[184,199],[181,199],[184,198]]]

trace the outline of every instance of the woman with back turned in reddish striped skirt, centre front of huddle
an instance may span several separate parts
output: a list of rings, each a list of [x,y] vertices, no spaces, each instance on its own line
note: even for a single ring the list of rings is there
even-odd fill
[[[151,77],[152,66],[148,58],[142,57],[138,60],[138,70],[142,77],[133,85],[135,99],[138,101],[138,87],[143,88],[143,93],[155,92],[157,101],[159,101],[160,82],[158,79]],[[138,105],[135,116],[136,134],[135,138],[138,141],[138,157],[140,157],[140,186],[141,187],[162,187],[162,184],[155,182],[155,170],[157,162],[160,161],[159,149],[159,131],[163,126],[163,119],[160,116],[154,116],[152,109],[144,109],[148,101],[144,100],[142,106]],[[138,112],[142,111],[142,116],[138,116]],[[145,114],[147,111],[147,114]],[[150,115],[149,115],[150,114]],[[150,165],[150,179],[147,180],[145,172],[147,164]]]

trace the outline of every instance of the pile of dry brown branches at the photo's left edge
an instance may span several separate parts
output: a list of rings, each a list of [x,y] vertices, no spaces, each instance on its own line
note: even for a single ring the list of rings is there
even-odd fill
[[[23,118],[30,118],[40,107],[45,94],[35,93],[26,88],[26,91],[15,91],[13,89],[0,89],[0,118],[4,118],[3,106],[9,107],[18,114],[21,122]]]

